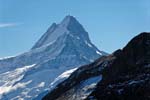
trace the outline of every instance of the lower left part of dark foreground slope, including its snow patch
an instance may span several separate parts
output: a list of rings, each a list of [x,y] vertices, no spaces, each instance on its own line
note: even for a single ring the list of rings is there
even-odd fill
[[[73,72],[68,79],[58,84],[43,100],[83,100],[102,79],[105,64],[112,63],[114,57],[103,56],[95,62],[82,66]],[[91,87],[91,85],[94,85]],[[82,92],[81,92],[82,91]]]

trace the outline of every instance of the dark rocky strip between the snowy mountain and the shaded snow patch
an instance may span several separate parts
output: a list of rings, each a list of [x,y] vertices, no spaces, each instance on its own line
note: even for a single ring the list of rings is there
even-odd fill
[[[115,59],[113,56],[109,56],[109,57],[103,56],[89,65],[80,67],[75,72],[73,72],[68,79],[58,84],[53,91],[51,91],[43,98],[43,100],[55,100],[55,99],[69,100],[69,96],[73,95],[73,93],[68,94],[67,91],[78,86],[86,79],[95,76],[100,76],[102,70],[105,68],[106,63],[107,64],[112,63],[113,59]]]

